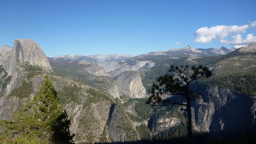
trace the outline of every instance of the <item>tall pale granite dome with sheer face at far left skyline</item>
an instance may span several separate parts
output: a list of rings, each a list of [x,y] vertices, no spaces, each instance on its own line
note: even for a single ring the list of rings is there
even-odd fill
[[[3,66],[8,75],[12,76],[6,88],[6,95],[18,85],[18,77],[24,73],[19,64],[40,66],[47,71],[52,71],[44,51],[30,39],[15,39],[14,47],[1,47],[0,54],[0,65]]]

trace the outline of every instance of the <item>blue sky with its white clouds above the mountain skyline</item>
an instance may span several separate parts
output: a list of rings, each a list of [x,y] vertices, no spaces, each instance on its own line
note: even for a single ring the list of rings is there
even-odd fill
[[[239,48],[256,41],[255,6],[255,0],[0,0],[0,46],[29,38],[48,57]]]

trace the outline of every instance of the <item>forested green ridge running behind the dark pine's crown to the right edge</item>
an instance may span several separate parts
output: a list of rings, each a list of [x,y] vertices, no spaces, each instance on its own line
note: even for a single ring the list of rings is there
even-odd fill
[[[164,75],[170,65],[207,65],[213,72],[209,80],[200,80],[207,86],[221,86],[238,93],[255,96],[256,55],[254,52],[234,51],[226,55],[206,57],[184,57],[165,60],[150,70],[141,71],[143,85],[150,90],[150,86],[157,79],[157,75]]]

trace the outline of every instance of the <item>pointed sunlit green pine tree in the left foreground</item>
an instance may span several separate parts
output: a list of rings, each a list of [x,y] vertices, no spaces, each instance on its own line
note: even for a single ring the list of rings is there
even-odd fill
[[[74,135],[70,135],[70,120],[62,106],[58,105],[57,92],[48,76],[38,95],[33,100],[35,118],[40,122],[40,127],[45,136],[55,143],[69,143]]]

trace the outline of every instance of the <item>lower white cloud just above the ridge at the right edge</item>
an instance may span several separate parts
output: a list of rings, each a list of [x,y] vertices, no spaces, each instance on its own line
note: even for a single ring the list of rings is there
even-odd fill
[[[256,36],[253,36],[253,33],[249,33],[245,38],[241,34],[234,35],[230,40],[221,39],[221,43],[233,45],[235,48],[249,45],[251,42],[256,42]]]

